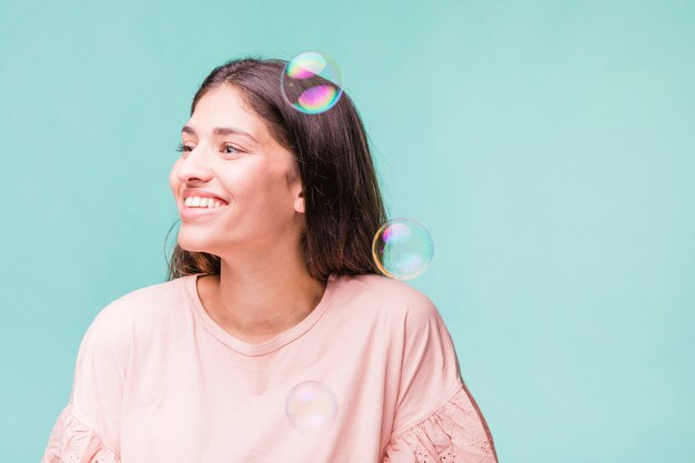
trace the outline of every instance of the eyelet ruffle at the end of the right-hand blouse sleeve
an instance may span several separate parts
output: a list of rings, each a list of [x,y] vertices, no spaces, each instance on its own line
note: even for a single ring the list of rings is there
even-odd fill
[[[383,463],[497,463],[490,429],[466,386],[424,421],[393,435]]]

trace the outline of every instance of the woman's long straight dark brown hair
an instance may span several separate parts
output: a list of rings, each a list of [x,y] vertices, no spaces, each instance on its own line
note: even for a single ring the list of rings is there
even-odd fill
[[[301,243],[311,276],[325,281],[331,273],[381,274],[372,258],[372,240],[387,218],[362,120],[344,92],[322,113],[292,108],[280,89],[286,64],[280,59],[243,58],[216,67],[195,93],[191,114],[214,88],[230,84],[241,90],[298,162],[306,223]],[[168,281],[192,273],[220,274],[220,258],[177,243],[168,266]]]

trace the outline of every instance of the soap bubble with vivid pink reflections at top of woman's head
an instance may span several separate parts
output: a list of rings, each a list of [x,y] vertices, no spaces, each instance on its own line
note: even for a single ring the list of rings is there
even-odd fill
[[[305,114],[330,110],[343,94],[338,66],[318,51],[305,51],[288,62],[280,88],[285,101]]]

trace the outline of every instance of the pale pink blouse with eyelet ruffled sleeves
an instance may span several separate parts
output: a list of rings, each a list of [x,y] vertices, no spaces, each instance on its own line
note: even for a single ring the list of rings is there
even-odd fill
[[[208,314],[199,275],[97,314],[42,463],[497,462],[420,291],[333,274],[304,320],[248,344]]]

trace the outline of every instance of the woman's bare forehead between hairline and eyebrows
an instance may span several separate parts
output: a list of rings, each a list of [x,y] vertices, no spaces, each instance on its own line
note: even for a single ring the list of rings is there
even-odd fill
[[[243,93],[231,85],[209,90],[195,104],[187,125],[199,137],[212,137],[216,127],[235,127],[250,133],[259,142],[268,140],[264,121],[244,101]]]

